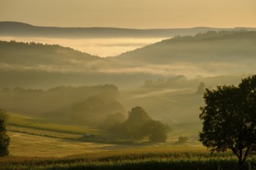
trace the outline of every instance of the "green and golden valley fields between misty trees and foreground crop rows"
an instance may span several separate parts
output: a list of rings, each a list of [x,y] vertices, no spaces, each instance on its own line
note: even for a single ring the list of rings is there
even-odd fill
[[[147,141],[130,143],[120,141],[118,138],[109,139],[111,134],[105,131],[85,126],[72,126],[63,124],[47,124],[46,120],[36,117],[26,117],[19,114],[9,114],[9,135],[11,137],[11,155],[19,156],[65,156],[88,152],[110,151],[120,148],[150,148],[154,146],[176,145],[178,137],[182,134],[189,136],[189,141],[182,145],[202,147],[195,136],[195,124],[185,124],[175,127],[168,135],[166,143],[154,144]],[[188,127],[192,126],[192,127]],[[193,129],[194,128],[194,129]],[[187,131],[186,129],[190,129]],[[94,134],[95,138],[81,140],[82,134]]]

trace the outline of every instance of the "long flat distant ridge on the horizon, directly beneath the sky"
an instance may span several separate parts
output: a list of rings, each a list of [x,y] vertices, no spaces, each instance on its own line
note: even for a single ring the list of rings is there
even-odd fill
[[[256,30],[255,28],[234,28]],[[104,27],[47,27],[32,26],[22,22],[0,22],[0,36],[33,36],[53,38],[109,38],[109,37],[148,37],[168,38],[192,36],[199,32],[233,30],[223,28],[195,27],[189,29],[122,29]]]

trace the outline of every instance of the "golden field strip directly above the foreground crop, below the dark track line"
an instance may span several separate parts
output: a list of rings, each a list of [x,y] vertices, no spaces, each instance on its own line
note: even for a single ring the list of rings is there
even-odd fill
[[[11,145],[9,147],[12,156],[25,157],[63,157],[67,155],[78,155],[85,153],[98,153],[101,151],[116,151],[124,148],[150,148],[162,147],[171,149],[204,150],[200,145],[170,145],[154,144],[150,142],[140,144],[115,144],[89,141],[75,141],[61,138],[43,137],[40,135],[9,132]],[[164,150],[163,150],[164,151]]]

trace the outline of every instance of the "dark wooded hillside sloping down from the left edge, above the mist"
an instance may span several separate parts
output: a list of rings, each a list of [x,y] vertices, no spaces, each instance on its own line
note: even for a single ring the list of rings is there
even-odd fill
[[[1,63],[54,64],[71,59],[92,62],[100,58],[58,45],[0,41],[0,59]]]

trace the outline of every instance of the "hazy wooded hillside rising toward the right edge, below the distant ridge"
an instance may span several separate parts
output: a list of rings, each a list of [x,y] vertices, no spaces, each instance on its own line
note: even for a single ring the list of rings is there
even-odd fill
[[[118,56],[119,60],[145,63],[200,63],[255,60],[256,32],[206,32],[176,36]]]

